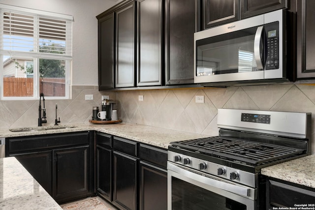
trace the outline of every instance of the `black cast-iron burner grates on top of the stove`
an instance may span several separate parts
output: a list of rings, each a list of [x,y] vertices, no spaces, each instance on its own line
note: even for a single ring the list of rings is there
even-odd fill
[[[264,164],[304,152],[302,149],[220,136],[172,142],[171,144],[183,149],[253,165]]]

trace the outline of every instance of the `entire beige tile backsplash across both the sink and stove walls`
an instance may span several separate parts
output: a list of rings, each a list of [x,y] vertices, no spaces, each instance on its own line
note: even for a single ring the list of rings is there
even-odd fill
[[[94,100],[85,100],[93,94]],[[101,95],[116,100],[118,117],[125,122],[218,135],[217,109],[251,109],[312,113],[312,151],[315,153],[315,86],[263,85],[218,89],[124,90],[100,92],[96,86],[72,87],[72,99],[45,100],[48,124],[55,122],[55,104],[61,124],[89,123],[92,107]],[[138,95],[144,100],[139,101]],[[204,95],[204,103],[195,103]],[[0,101],[0,128],[37,126],[38,101]]]

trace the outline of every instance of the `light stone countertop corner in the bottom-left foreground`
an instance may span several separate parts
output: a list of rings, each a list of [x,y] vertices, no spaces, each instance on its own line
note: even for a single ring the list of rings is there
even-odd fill
[[[15,157],[0,158],[0,210],[62,210]]]

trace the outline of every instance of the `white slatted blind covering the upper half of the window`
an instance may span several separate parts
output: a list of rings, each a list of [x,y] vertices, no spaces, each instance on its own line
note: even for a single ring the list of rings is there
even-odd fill
[[[1,50],[72,56],[73,19],[56,13],[38,14],[31,9],[16,11],[5,7],[1,8]]]

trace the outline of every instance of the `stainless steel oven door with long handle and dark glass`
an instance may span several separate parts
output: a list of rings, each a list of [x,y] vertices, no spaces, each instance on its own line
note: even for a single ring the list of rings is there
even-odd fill
[[[168,210],[257,210],[257,189],[167,162]]]

